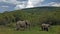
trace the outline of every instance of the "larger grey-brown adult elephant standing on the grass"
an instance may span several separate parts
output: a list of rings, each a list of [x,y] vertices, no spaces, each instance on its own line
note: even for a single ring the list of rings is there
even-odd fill
[[[26,28],[30,28],[30,23],[28,20],[20,20],[17,21],[16,23],[16,30],[19,30],[23,28],[23,30],[25,30]]]

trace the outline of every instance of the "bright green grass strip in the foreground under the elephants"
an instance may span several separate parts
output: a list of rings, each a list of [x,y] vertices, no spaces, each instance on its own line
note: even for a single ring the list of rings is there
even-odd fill
[[[41,31],[39,27],[32,27],[30,30],[16,31],[15,28],[0,27],[0,34],[60,34],[60,26],[52,26],[49,31]]]

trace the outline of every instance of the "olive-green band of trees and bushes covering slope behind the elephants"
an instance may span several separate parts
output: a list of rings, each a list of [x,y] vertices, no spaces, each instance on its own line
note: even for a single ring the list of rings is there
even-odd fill
[[[0,13],[0,25],[14,26],[20,19],[29,20],[32,25],[40,25],[43,22],[60,25],[60,9],[36,8]]]

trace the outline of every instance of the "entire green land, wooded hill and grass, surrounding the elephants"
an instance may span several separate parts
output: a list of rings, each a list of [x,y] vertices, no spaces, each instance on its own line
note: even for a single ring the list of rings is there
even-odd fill
[[[16,31],[16,21],[29,20],[31,29]],[[41,23],[52,25],[49,31],[41,31]],[[33,27],[35,26],[35,27]],[[0,13],[0,34],[60,34],[60,7],[35,7]]]

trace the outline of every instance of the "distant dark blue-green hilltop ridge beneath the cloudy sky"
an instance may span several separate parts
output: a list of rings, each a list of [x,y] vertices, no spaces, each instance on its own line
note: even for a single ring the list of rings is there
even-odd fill
[[[37,10],[39,12],[44,12],[44,11],[56,11],[56,10],[60,10],[60,7],[34,7],[34,8],[27,8],[27,9],[22,9],[23,11],[34,11],[37,12]]]

